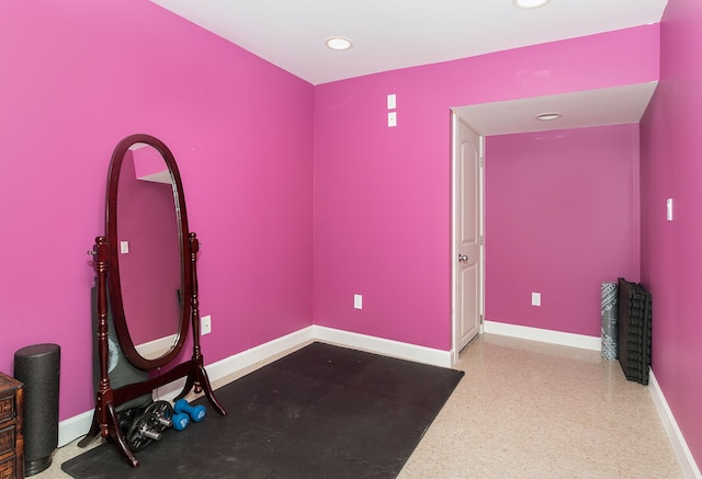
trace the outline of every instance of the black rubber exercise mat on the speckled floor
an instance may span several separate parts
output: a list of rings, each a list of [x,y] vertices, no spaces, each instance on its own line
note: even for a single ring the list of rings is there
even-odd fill
[[[111,443],[67,460],[88,478],[394,478],[463,372],[313,343],[215,391],[228,415],[168,430],[128,466]]]

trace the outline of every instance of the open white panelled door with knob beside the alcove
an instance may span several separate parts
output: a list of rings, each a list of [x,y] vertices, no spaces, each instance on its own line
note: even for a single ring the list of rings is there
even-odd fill
[[[454,358],[480,331],[483,301],[480,137],[454,117]]]

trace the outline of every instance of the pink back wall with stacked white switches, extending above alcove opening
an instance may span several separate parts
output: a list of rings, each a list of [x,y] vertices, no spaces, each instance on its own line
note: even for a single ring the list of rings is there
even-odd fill
[[[450,350],[450,107],[657,80],[658,35],[648,25],[318,85],[315,323]],[[581,322],[550,324],[599,335]]]

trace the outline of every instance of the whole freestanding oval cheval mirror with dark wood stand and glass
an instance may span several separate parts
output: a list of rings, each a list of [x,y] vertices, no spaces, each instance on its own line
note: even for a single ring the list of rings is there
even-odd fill
[[[188,229],[176,159],[159,139],[138,134],[117,144],[107,175],[105,230],[90,252],[97,276],[95,410],[78,445],[86,447],[99,434],[110,437],[126,463],[138,467],[134,453],[158,435],[139,423],[140,418],[152,419],[151,413],[139,414],[155,406],[156,388],[185,378],[176,400],[194,388],[226,415],[200,347],[200,242]],[[192,358],[173,366],[189,331]]]

